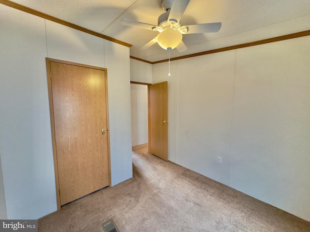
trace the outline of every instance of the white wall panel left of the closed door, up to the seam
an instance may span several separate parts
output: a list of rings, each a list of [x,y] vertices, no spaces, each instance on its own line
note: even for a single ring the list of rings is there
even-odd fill
[[[8,219],[57,209],[45,20],[0,5],[0,156]]]

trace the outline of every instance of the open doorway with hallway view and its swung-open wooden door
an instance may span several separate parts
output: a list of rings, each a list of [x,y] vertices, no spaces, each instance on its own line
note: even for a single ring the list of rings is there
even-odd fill
[[[132,147],[137,148],[136,146],[148,146],[149,153],[167,161],[168,82],[166,81],[153,85],[139,82],[130,83]],[[143,84],[144,87],[141,86],[141,84]],[[139,97],[140,93],[141,97]],[[143,104],[140,104],[140,101],[143,102]],[[141,107],[141,105],[143,106]],[[139,112],[140,109],[141,112]],[[140,113],[143,115],[143,119],[140,119]],[[140,126],[141,128],[144,128],[144,130],[140,130]],[[148,136],[146,134],[148,134]],[[146,142],[147,138],[148,142]]]

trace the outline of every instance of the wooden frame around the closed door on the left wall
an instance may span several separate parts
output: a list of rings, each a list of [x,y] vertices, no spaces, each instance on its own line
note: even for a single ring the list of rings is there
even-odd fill
[[[55,136],[55,121],[54,121],[54,109],[53,109],[53,93],[52,93],[52,81],[51,81],[51,71],[50,62],[57,62],[68,65],[75,65],[84,68],[91,68],[97,70],[105,71],[105,82],[106,82],[106,112],[107,112],[107,139],[108,139],[108,163],[109,163],[109,186],[111,186],[111,159],[110,159],[110,133],[109,133],[109,99],[108,99],[108,70],[106,68],[79,64],[70,61],[64,61],[53,58],[46,58],[47,65],[47,87],[48,87],[48,100],[49,100],[49,112],[50,112],[50,124],[52,132],[52,145],[53,145],[53,159],[54,159],[54,170],[55,170],[55,184],[56,184],[56,198],[57,198],[57,210],[61,208],[60,203],[60,188],[59,188],[59,174],[58,174],[58,162],[57,162],[57,152],[56,152],[56,136]]]

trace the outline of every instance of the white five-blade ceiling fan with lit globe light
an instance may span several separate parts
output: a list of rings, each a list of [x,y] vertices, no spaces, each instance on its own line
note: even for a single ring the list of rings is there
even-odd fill
[[[161,5],[166,12],[158,17],[158,26],[128,19],[122,19],[121,24],[159,32],[154,39],[145,43],[140,49],[146,49],[158,43],[168,51],[176,48],[179,52],[183,52],[187,49],[185,43],[182,41],[183,34],[217,32],[222,26],[219,22],[181,26],[180,20],[189,1],[162,0]]]

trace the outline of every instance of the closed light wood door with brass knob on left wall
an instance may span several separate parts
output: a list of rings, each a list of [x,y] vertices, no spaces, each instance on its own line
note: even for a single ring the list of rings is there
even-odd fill
[[[109,185],[106,71],[50,62],[60,204]]]

